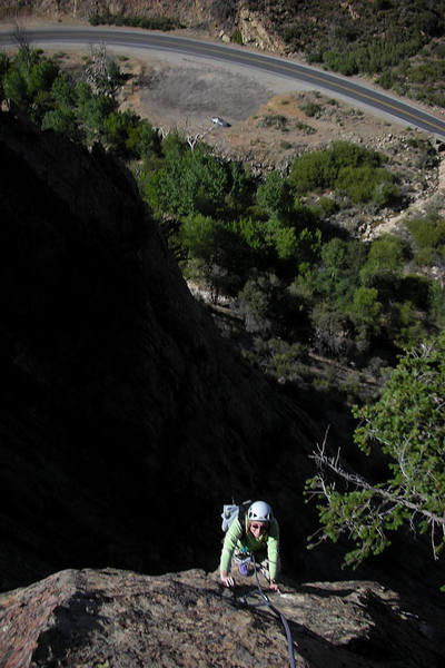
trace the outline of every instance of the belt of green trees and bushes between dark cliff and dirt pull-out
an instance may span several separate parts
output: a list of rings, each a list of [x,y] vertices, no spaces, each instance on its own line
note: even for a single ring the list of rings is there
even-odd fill
[[[248,357],[267,373],[287,383],[306,377],[310,348],[374,374],[373,358],[394,364],[400,348],[444,326],[443,277],[421,275],[443,266],[441,218],[409,222],[408,242],[367,244],[332,224],[358,204],[376,212],[397,202],[380,154],[336,141],[297,157],[288,176],[254,177],[205,144],[191,149],[175,132],[161,139],[147,120],[121,111],[123,78],[116,62],[107,71],[90,85],[23,48],[1,57],[0,91],[11,114],[128,161],[185,275],[215,299],[233,298],[251,336]],[[334,382],[325,374],[318,390]],[[359,389],[349,385],[342,385],[348,397]]]

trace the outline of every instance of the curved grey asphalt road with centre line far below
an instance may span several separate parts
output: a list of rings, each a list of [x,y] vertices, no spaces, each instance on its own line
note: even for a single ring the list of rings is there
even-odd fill
[[[198,58],[216,59],[226,65],[253,67],[279,77],[303,81],[333,97],[348,98],[353,104],[366,105],[376,111],[383,111],[407,126],[426,130],[441,140],[445,140],[445,121],[433,114],[402,102],[373,88],[360,86],[347,79],[304,65],[297,65],[284,58],[264,56],[247,49],[216,45],[172,35],[141,30],[106,29],[106,28],[48,28],[26,29],[30,43],[98,43],[122,49],[150,49],[155,51],[174,51]],[[12,32],[0,30],[0,48],[16,43]]]

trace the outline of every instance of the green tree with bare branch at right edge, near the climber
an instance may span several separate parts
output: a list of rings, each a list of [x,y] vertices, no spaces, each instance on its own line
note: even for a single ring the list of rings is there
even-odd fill
[[[355,548],[345,563],[356,566],[382,552],[390,544],[389,532],[407,524],[431,533],[437,558],[445,546],[444,387],[442,334],[400,358],[376,403],[354,409],[360,421],[355,443],[366,454],[377,450],[386,459],[387,477],[380,482],[347,471],[325,444],[314,453],[319,471],[306,493],[319,501],[322,527],[309,547],[346,534]]]

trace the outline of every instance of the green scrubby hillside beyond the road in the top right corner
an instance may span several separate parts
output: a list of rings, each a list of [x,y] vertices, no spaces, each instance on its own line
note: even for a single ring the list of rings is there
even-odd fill
[[[267,16],[289,50],[309,62],[346,76],[372,75],[400,95],[445,106],[444,0],[325,0],[316,12],[301,1],[298,13],[295,2],[280,0]]]

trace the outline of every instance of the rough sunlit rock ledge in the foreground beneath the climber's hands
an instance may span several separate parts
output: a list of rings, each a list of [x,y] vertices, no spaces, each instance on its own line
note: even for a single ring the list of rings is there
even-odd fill
[[[264,583],[263,583],[264,586]],[[234,593],[215,573],[151,578],[66,570],[0,595],[0,667],[165,668],[288,665],[284,627],[255,582]],[[419,609],[376,582],[286,586],[270,602],[286,616],[298,667],[439,668],[443,611]]]

